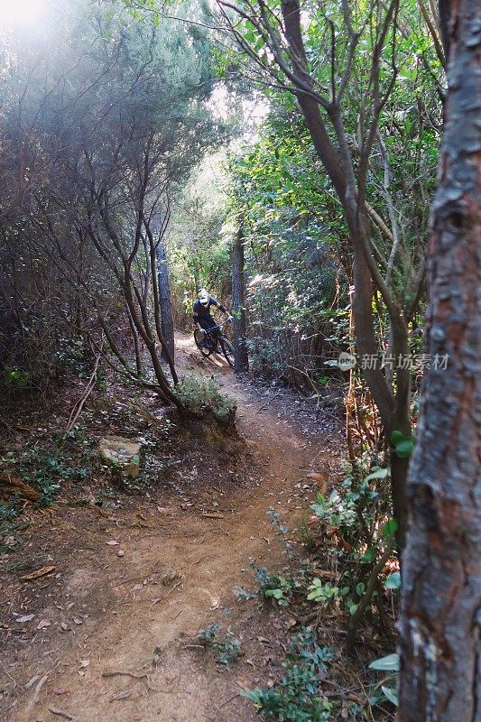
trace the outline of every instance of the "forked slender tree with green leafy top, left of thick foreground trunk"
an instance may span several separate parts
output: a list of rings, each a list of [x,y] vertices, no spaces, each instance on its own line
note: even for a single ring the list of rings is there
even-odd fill
[[[346,254],[353,261],[353,312],[360,358],[379,356],[375,298],[389,319],[389,356],[409,356],[409,326],[423,282],[412,273],[396,287],[395,268],[402,264],[403,244],[393,214],[390,188],[389,130],[384,117],[393,109],[398,79],[413,71],[416,43],[430,45],[427,33],[410,32],[412,5],[404,13],[397,0],[369,7],[347,1],[301,9],[299,0],[217,3],[228,32],[249,60],[246,73],[290,94],[309,129],[315,152],[328,176],[331,193],[347,228]],[[292,106],[292,115],[297,114]],[[395,125],[399,125],[396,120]],[[384,157],[384,194],[389,220],[376,210],[369,195],[376,150]],[[387,255],[379,253],[375,228],[389,238]],[[387,233],[386,233],[387,231]],[[405,247],[405,246],[404,246]],[[418,251],[418,260],[422,252]],[[405,257],[405,256],[404,256]],[[366,364],[365,382],[375,400],[386,440],[411,438],[411,371],[394,363],[386,373],[380,363]],[[397,540],[404,546],[407,530],[406,475],[408,458],[391,446],[393,512]]]

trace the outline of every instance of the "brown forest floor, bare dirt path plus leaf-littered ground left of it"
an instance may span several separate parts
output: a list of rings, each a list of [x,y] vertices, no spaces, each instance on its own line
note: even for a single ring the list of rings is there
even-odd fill
[[[308,474],[338,480],[342,421],[288,390],[236,378],[217,357],[201,359],[189,336],[178,335],[177,357],[181,373],[216,375],[236,399],[237,435],[196,438],[148,395],[133,401],[133,390],[108,403],[92,396],[86,443],[89,434],[138,436],[143,422],[150,438],[153,417],[163,419],[149,452],[151,462],[160,457],[158,483],[142,494],[105,487],[103,496],[98,478],[71,484],[0,540],[4,722],[247,722],[258,717],[240,691],[282,673],[296,620],[239,602],[235,589],[248,586],[251,563],[285,564],[266,512],[301,528],[319,488]],[[2,450],[27,443],[29,421],[46,432],[65,413],[16,419]],[[22,579],[39,569],[47,571]],[[199,629],[212,623],[242,643],[236,662],[219,664],[199,645]]]

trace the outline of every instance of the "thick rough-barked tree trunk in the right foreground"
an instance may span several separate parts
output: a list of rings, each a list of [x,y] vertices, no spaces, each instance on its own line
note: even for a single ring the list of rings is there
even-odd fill
[[[431,367],[408,487],[399,722],[478,722],[481,715],[479,0],[453,2],[449,27],[447,123],[430,238]]]

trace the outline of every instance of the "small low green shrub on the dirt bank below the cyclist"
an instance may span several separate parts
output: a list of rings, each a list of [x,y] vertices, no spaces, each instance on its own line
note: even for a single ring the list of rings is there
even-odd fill
[[[219,391],[211,377],[204,381],[198,376],[184,376],[176,393],[185,409],[196,416],[211,414],[219,423],[230,423],[236,415],[236,402]]]

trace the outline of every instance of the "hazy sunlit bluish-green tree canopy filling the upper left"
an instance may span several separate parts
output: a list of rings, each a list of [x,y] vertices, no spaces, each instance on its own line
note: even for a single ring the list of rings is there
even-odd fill
[[[149,236],[167,224],[174,189],[226,134],[208,106],[212,67],[202,33],[167,20],[139,22],[122,5],[108,12],[104,4],[74,6],[60,28],[51,13],[54,39],[47,28],[34,49],[28,37],[18,38],[22,52],[17,38],[4,47],[11,64],[3,136],[11,156],[4,160],[3,289],[9,306],[22,298],[10,323],[20,333],[29,327],[27,342],[10,352],[21,356],[5,365],[21,366],[33,384],[42,383],[37,374],[57,373],[62,338],[71,347],[72,333],[105,327],[113,347],[116,327],[129,321],[146,334],[143,305],[156,282]],[[65,368],[68,359],[58,360]]]

